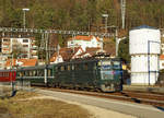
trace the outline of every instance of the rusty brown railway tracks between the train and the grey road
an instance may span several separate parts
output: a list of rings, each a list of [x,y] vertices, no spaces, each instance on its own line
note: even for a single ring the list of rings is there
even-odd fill
[[[112,98],[118,101],[132,102],[138,104],[153,105],[155,107],[164,108],[164,95],[163,94],[152,94],[152,93],[142,93],[142,92],[132,92],[124,91],[120,93],[99,93],[99,92],[87,92],[87,91],[75,91],[75,90],[63,90],[63,88],[54,88],[54,87],[39,87],[43,90],[82,94],[95,97]]]

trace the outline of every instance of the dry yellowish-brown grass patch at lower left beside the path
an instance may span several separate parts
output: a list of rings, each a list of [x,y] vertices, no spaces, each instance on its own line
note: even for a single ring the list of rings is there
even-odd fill
[[[0,99],[0,118],[90,118],[86,109],[54,99],[26,99],[35,93],[19,92],[15,97]],[[25,98],[25,99],[23,99]]]

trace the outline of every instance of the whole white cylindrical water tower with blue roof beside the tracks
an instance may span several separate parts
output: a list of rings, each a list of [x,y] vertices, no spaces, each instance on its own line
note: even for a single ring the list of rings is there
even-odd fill
[[[129,33],[131,84],[154,85],[159,76],[160,30],[142,25]]]

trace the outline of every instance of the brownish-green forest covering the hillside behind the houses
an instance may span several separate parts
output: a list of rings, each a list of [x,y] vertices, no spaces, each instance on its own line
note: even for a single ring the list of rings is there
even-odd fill
[[[126,24],[129,30],[139,25],[164,27],[164,0],[126,0]],[[120,0],[0,0],[0,26],[102,32],[102,14],[108,14],[107,25],[121,31]],[[58,36],[65,44],[65,36]],[[129,60],[128,39],[121,44],[119,56]],[[106,46],[109,47],[109,46]]]

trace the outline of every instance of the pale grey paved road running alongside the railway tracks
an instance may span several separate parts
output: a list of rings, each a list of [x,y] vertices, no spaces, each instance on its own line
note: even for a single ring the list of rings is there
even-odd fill
[[[78,102],[81,104],[92,105],[131,116],[136,116],[139,118],[164,118],[164,108],[155,107],[151,105],[141,105],[137,103],[130,102],[120,102],[115,99],[106,99],[86,95],[78,95],[71,93],[62,93],[55,91],[46,91],[46,90],[35,90],[37,93],[40,93],[46,96],[52,96],[60,99],[66,99],[70,102]]]

